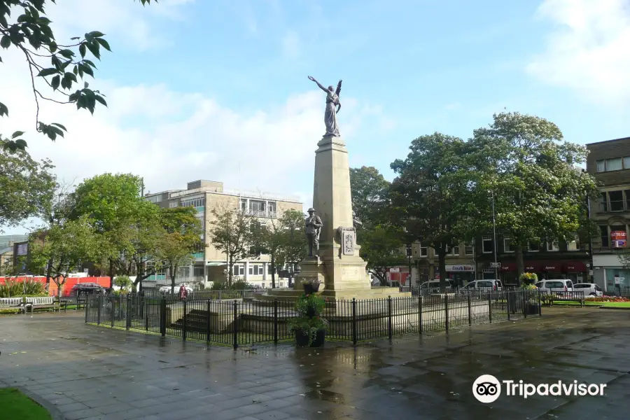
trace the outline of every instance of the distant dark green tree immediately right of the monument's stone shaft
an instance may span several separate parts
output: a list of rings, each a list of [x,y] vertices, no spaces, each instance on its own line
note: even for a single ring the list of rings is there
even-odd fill
[[[374,221],[374,210],[384,203],[390,183],[375,167],[350,168],[352,210],[356,228],[368,228]]]

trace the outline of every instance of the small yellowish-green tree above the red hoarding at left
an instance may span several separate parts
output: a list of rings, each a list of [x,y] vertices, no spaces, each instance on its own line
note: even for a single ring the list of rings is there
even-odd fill
[[[37,230],[29,237],[31,271],[46,275],[57,284],[59,296],[71,272],[97,253],[98,240],[86,217]]]

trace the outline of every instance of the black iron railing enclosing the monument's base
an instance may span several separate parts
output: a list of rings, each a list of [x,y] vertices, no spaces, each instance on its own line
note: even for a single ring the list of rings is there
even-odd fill
[[[329,339],[357,342],[395,335],[463,328],[542,314],[538,290],[450,293],[328,301],[322,317]],[[297,316],[288,300],[187,299],[172,295],[89,296],[85,322],[144,330],[237,348],[293,339],[288,321]]]

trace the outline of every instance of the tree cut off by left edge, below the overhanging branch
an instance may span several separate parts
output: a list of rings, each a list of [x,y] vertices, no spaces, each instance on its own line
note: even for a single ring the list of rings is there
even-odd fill
[[[0,136],[0,228],[48,213],[55,193],[50,160],[36,162],[8,142]]]

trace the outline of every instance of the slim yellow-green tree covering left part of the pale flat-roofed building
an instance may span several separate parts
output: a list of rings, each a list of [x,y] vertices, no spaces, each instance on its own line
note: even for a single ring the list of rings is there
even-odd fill
[[[181,265],[190,262],[190,254],[203,246],[202,224],[193,207],[161,209],[160,217],[165,235],[159,244],[159,257],[164,260],[171,277],[171,293],[175,293],[175,279]]]

